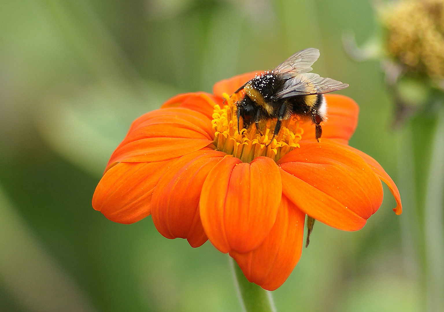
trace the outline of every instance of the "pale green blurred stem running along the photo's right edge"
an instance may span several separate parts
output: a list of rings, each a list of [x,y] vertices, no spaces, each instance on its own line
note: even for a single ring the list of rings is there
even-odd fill
[[[444,107],[440,107],[424,205],[427,311],[444,308]]]

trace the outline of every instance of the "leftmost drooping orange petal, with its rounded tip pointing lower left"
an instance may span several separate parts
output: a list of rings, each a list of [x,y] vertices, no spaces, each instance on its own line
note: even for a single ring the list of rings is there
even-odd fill
[[[171,161],[119,162],[102,177],[92,206],[114,222],[130,224],[151,213],[151,196]]]

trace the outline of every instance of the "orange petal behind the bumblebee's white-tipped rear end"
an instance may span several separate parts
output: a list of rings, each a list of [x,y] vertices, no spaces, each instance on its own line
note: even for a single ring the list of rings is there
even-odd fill
[[[359,106],[348,96],[326,94],[327,120],[321,122],[322,138],[341,138],[347,142],[356,130]],[[315,138],[315,126],[310,121],[300,123],[304,129],[302,139]]]

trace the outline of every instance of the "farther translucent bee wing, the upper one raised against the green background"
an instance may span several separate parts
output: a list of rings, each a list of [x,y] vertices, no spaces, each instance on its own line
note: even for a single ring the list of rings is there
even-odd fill
[[[291,76],[312,71],[311,66],[319,58],[319,50],[313,47],[294,53],[273,71]]]

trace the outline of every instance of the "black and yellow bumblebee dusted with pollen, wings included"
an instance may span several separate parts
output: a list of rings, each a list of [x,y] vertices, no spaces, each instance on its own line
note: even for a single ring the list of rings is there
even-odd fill
[[[236,103],[238,129],[241,117],[245,128],[255,122],[258,130],[260,121],[277,118],[271,143],[281,130],[282,120],[297,115],[316,125],[316,139],[319,142],[322,135],[320,123],[327,118],[327,103],[323,94],[349,85],[309,73],[318,58],[319,50],[315,48],[296,52],[272,71],[257,75],[234,92],[242,89],[245,92],[242,100]]]

